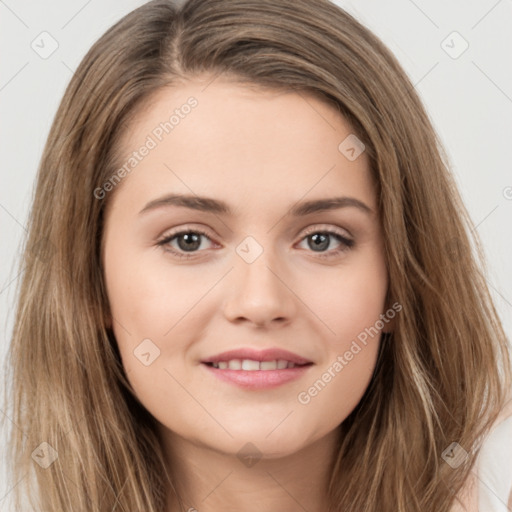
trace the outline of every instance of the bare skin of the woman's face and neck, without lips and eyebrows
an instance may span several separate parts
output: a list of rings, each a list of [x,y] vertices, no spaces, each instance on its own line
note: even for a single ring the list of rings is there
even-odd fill
[[[128,156],[175,108],[197,99],[107,198],[102,257],[110,322],[134,393],[158,421],[185,510],[325,510],[337,427],[370,382],[380,336],[309,403],[297,397],[386,311],[369,162],[364,152],[349,161],[338,150],[352,130],[319,99],[211,80],[159,91],[123,140]],[[169,193],[222,200],[233,212],[164,206],[139,213]],[[299,201],[334,196],[356,198],[372,212],[287,215]],[[197,228],[208,237],[195,252],[182,249],[183,237],[182,245],[177,238],[167,244],[190,259],[158,245],[167,234]],[[326,229],[354,246],[334,254],[344,246],[331,236],[315,250],[306,230]],[[252,263],[236,252],[247,236],[263,250]],[[148,366],[134,355],[144,339],[160,351]],[[283,348],[314,364],[267,390],[220,381],[201,364],[241,347]],[[248,442],[261,455],[251,467],[237,457]],[[176,510],[170,497],[168,512]]]

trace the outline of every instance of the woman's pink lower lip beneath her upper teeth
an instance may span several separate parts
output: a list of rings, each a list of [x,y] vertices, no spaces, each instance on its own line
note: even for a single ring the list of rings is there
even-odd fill
[[[220,370],[213,366],[202,363],[214,377],[225,382],[230,382],[247,389],[269,389],[281,386],[287,382],[302,377],[310,368],[311,364],[295,366],[283,370]]]

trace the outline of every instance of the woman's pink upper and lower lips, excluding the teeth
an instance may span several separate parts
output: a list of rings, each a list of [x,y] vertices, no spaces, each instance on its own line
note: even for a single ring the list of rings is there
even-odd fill
[[[218,363],[219,361],[229,361],[231,359],[252,359],[253,361],[274,361],[285,359],[296,365],[294,368],[284,368],[282,370],[229,370],[214,368],[209,363]],[[312,366],[313,362],[301,357],[288,350],[271,348],[266,350],[237,349],[222,352],[215,356],[201,361],[201,366],[212,376],[224,382],[234,384],[244,389],[269,389],[281,386],[287,382],[299,379]]]

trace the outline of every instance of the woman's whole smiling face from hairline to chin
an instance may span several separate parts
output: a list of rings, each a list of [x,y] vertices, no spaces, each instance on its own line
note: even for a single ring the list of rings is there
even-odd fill
[[[332,107],[209,81],[159,91],[98,199],[111,326],[173,442],[279,457],[332,435],[370,382],[387,291],[377,197]]]

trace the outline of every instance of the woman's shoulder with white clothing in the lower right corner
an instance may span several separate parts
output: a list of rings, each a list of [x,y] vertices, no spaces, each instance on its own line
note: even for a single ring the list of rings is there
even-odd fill
[[[487,434],[450,512],[512,510],[512,395]]]

